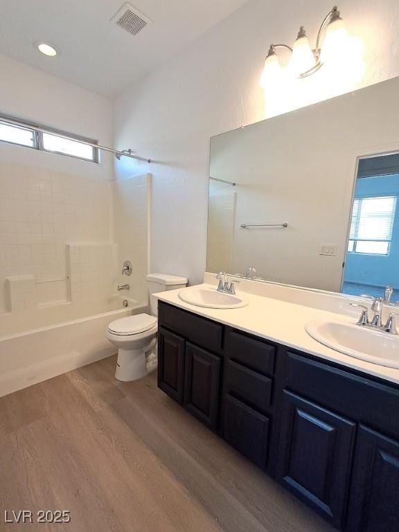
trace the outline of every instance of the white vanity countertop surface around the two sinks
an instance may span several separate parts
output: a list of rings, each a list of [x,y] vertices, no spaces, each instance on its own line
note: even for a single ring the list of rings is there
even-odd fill
[[[202,286],[211,287],[211,285],[207,284]],[[314,319],[325,319],[327,321],[337,321],[339,319],[340,321],[347,320],[353,323],[353,316],[337,314],[328,310],[320,310],[247,292],[242,293],[248,301],[248,305],[245,307],[222,310],[203,308],[181,301],[179,292],[180,289],[160,292],[154,295],[161,301],[184,308],[199,316],[213,319],[224,325],[249,332],[252,335],[272,340],[272,342],[277,344],[283,344],[310,355],[399,384],[399,369],[387,368],[343,355],[319,344],[305,331],[305,324]]]

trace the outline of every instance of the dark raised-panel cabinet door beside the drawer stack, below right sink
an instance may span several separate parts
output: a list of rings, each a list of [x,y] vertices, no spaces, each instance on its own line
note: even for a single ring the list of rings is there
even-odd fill
[[[338,528],[344,523],[355,423],[283,392],[278,481]]]

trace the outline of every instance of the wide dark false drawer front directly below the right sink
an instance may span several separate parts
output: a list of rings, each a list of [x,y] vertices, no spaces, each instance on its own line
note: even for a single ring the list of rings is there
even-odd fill
[[[285,388],[399,438],[399,387],[287,351]]]

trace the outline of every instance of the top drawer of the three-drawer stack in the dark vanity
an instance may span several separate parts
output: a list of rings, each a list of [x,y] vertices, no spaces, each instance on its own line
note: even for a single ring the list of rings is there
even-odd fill
[[[273,344],[228,329],[224,348],[231,360],[240,362],[260,373],[273,375],[276,358],[276,346]]]

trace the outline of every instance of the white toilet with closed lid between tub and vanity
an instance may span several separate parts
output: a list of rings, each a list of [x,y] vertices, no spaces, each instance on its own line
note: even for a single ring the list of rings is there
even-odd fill
[[[145,377],[148,358],[156,360],[158,305],[153,294],[184,288],[187,279],[170,274],[150,274],[147,284],[151,314],[125,316],[112,321],[107,327],[107,339],[118,348],[115,378],[125,382]],[[155,367],[156,363],[152,362],[152,369]]]

